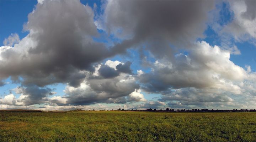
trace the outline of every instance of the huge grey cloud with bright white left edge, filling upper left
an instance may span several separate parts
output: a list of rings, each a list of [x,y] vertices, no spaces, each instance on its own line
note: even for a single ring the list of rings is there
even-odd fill
[[[80,1],[38,3],[24,29],[29,34],[13,48],[1,47],[1,79],[20,76],[23,85],[78,86],[82,71],[93,72],[94,62],[110,56],[104,44],[92,39],[98,35],[94,12]]]

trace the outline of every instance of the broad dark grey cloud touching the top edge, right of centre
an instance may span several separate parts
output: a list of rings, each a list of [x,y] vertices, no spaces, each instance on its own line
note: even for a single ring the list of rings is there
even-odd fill
[[[173,53],[170,44],[184,48],[203,37],[207,12],[213,8],[214,1],[108,1],[98,23],[125,39],[112,48],[114,53],[143,42],[162,58]]]

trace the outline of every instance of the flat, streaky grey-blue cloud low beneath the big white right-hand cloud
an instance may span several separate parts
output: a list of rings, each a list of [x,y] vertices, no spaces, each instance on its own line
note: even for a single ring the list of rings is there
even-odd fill
[[[170,101],[168,105],[172,108],[189,109],[191,108],[189,105],[204,108],[214,105],[234,104],[235,100],[229,96],[232,96],[232,93],[220,89],[181,88],[162,93],[159,100],[163,102]]]

